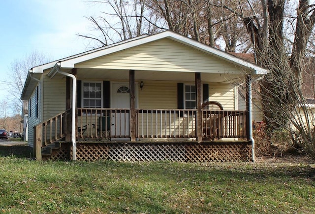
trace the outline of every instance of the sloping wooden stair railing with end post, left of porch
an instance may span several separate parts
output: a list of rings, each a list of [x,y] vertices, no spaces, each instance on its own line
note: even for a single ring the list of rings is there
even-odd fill
[[[65,137],[67,117],[71,117],[71,109],[68,109],[33,127],[34,154],[37,160],[41,159],[42,147]]]

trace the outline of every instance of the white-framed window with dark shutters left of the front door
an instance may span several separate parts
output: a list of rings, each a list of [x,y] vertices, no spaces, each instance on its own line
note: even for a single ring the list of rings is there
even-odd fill
[[[102,107],[102,82],[83,82],[82,92],[84,108]]]

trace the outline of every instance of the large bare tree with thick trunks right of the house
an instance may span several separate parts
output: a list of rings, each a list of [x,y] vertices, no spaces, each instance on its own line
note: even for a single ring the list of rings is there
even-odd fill
[[[252,6],[252,16],[243,13],[238,16],[247,27],[257,63],[270,71],[260,85],[269,129],[289,131],[293,141],[303,145],[315,158],[314,108],[303,90],[304,81],[310,84],[310,77],[306,75],[311,68],[307,48],[315,25],[315,5],[300,0],[294,17],[292,9],[290,15],[285,15],[288,3],[286,0],[261,0],[263,19],[256,16]],[[232,10],[226,5],[225,8]],[[285,22],[292,28],[284,28]],[[312,51],[309,53],[308,56],[312,56]]]

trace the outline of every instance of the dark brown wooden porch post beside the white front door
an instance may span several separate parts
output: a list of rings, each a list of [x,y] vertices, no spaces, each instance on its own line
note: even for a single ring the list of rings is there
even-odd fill
[[[134,70],[129,70],[129,87],[130,87],[130,141],[136,141],[136,109],[135,109],[135,87],[134,87]]]

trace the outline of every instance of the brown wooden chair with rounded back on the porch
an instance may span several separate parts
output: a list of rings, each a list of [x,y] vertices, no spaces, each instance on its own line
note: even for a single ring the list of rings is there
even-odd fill
[[[219,110],[223,110],[221,103],[217,101],[208,101],[202,104],[202,109],[214,110],[213,113],[204,111],[202,114],[202,130],[204,139],[220,139],[222,129],[222,114]]]

